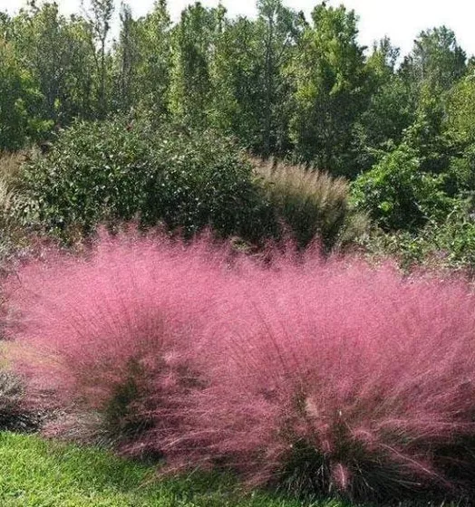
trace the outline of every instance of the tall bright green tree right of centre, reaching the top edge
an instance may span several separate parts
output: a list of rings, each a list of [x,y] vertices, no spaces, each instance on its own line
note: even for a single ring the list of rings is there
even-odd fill
[[[296,80],[291,135],[305,161],[337,174],[354,173],[354,123],[367,102],[364,47],[357,18],[344,6],[317,5],[292,64]]]

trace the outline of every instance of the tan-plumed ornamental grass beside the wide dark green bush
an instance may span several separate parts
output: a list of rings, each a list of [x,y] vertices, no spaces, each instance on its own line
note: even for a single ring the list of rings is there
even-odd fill
[[[273,160],[254,160],[267,200],[300,246],[315,239],[326,250],[354,241],[366,228],[365,216],[349,206],[344,178]]]

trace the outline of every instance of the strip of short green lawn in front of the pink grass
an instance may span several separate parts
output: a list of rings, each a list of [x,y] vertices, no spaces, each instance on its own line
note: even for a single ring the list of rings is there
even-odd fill
[[[223,477],[157,480],[153,467],[92,448],[0,433],[1,507],[297,507],[266,493],[243,495]],[[313,503],[344,507],[340,502]]]

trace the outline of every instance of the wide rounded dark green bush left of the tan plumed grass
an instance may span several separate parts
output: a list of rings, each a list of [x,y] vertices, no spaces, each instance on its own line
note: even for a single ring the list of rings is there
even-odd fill
[[[78,122],[24,178],[36,221],[65,234],[136,216],[185,234],[212,226],[254,239],[267,228],[250,165],[231,140],[209,131],[152,128],[146,120]]]

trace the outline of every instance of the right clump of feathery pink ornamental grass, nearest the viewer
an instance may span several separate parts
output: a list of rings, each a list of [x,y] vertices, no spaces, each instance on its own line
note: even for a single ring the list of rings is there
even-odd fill
[[[177,463],[354,497],[473,486],[475,298],[465,282],[310,257],[249,263],[222,298],[208,387],[170,443]]]

